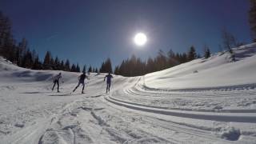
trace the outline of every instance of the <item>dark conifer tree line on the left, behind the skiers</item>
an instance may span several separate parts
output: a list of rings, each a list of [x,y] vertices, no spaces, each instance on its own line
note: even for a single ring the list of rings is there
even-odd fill
[[[55,58],[46,52],[43,61],[40,60],[38,53],[35,50],[30,50],[26,38],[22,38],[21,42],[16,42],[12,34],[12,26],[10,19],[0,11],[0,55],[8,59],[10,62],[17,64],[17,66],[33,69],[33,70],[64,70],[71,72],[80,72],[80,66],[77,64],[70,64],[70,60],[66,61]],[[86,66],[83,67],[86,71]],[[91,66],[90,72],[95,71]]]

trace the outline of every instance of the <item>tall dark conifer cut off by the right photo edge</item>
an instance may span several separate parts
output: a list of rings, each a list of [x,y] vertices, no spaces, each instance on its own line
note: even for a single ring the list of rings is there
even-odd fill
[[[253,41],[256,42],[256,1],[250,0],[249,23]]]

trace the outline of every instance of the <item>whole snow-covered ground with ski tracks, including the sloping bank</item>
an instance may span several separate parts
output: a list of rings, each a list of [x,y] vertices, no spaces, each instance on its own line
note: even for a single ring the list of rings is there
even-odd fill
[[[0,58],[0,144],[256,143],[256,44],[142,77],[27,70]]]

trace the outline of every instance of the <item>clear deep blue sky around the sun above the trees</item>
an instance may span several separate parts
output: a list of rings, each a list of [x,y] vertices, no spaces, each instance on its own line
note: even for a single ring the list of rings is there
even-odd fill
[[[27,38],[43,57],[46,50],[71,62],[114,65],[131,54],[146,59],[158,50],[185,52],[195,46],[218,51],[225,27],[241,42],[251,42],[247,0],[1,0],[13,22],[14,37]],[[134,45],[137,32],[146,46]]]

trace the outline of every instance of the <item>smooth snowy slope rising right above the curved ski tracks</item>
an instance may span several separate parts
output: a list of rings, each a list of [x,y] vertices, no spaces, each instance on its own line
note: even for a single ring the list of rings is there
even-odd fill
[[[146,74],[146,86],[159,89],[190,89],[236,86],[256,82],[256,44],[234,49],[238,62],[230,62],[229,53],[214,54],[152,74]],[[194,72],[198,71],[198,72]]]

